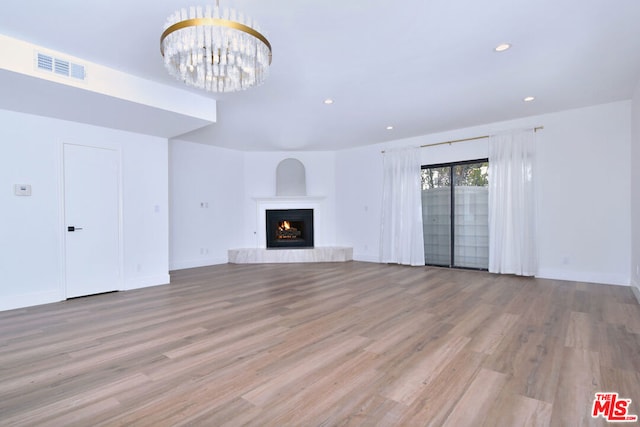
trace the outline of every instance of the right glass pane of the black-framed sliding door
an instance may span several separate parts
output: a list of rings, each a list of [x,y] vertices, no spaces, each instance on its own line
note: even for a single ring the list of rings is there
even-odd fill
[[[488,163],[453,167],[454,266],[489,267]]]

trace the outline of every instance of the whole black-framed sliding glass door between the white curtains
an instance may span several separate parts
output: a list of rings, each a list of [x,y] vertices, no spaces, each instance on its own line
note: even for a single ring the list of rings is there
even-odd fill
[[[422,167],[426,265],[489,266],[488,160]]]

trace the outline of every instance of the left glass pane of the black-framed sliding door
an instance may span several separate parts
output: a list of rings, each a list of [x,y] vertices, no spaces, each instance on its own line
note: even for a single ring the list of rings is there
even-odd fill
[[[451,168],[422,169],[422,224],[427,265],[451,266]]]

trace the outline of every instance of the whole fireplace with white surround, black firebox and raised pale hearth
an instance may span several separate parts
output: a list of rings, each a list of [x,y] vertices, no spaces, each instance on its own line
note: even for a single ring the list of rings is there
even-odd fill
[[[353,259],[353,248],[326,243],[324,197],[270,197],[255,201],[256,247],[230,249],[230,263],[343,262]],[[269,240],[271,243],[268,244]]]

